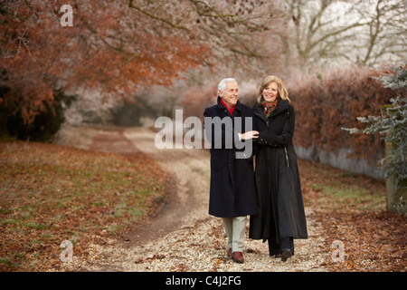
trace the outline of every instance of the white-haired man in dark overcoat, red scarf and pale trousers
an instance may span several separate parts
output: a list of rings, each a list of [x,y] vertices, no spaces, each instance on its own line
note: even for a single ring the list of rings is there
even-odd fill
[[[212,145],[209,214],[223,219],[228,256],[243,263],[247,216],[256,212],[251,139],[259,132],[252,131],[253,111],[238,99],[237,82],[222,80],[218,103],[204,111],[204,126]]]

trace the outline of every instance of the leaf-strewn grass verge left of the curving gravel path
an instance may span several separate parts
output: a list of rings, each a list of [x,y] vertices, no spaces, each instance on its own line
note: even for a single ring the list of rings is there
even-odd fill
[[[137,225],[165,197],[152,160],[35,142],[0,142],[0,271],[61,265],[62,241],[85,245]]]

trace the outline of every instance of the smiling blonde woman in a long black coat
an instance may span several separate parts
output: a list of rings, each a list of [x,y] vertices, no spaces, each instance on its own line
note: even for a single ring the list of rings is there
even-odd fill
[[[307,222],[298,175],[297,154],[292,145],[294,108],[277,76],[261,83],[253,107],[259,131],[255,179],[257,214],[251,216],[249,237],[269,240],[270,256],[282,261],[294,255],[294,238],[307,238]]]

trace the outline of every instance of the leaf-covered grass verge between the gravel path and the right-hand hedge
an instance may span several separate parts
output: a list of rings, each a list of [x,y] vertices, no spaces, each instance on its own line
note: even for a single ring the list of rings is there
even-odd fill
[[[304,203],[323,228],[324,253],[344,245],[344,259],[327,255],[330,271],[397,271],[407,267],[407,217],[386,211],[385,183],[351,172],[298,162]],[[336,256],[338,257],[338,256]]]

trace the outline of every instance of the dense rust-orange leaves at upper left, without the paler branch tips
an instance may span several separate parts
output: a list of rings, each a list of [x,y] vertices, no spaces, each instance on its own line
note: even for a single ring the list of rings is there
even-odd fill
[[[208,55],[204,45],[167,34],[124,2],[71,1],[73,26],[60,23],[63,4],[0,4],[0,104],[15,103],[27,124],[52,105],[56,88],[126,98],[139,87],[168,85]]]

